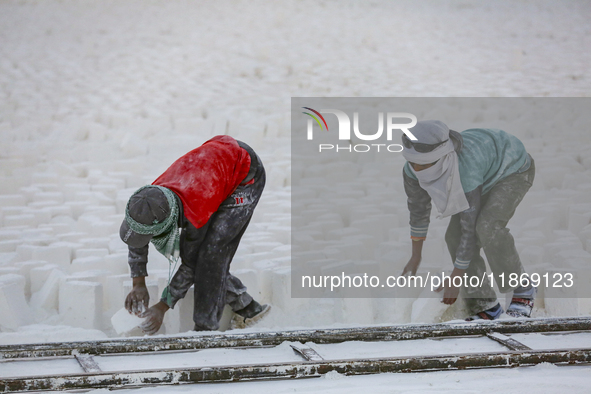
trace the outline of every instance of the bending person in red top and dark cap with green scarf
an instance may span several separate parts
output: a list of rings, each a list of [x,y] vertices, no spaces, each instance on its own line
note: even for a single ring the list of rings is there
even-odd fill
[[[125,300],[130,313],[146,317],[141,328],[154,334],[164,314],[194,285],[194,329],[217,330],[224,306],[234,327],[250,326],[270,306],[261,305],[230,274],[230,263],[265,186],[265,169],[248,145],[216,136],[175,161],[152,185],[129,199],[121,239],[129,247],[133,288]],[[158,303],[150,296],[148,244],[171,264],[181,265]]]

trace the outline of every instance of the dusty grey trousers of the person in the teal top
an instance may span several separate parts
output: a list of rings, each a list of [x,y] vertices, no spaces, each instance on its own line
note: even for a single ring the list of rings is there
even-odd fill
[[[486,265],[480,254],[480,249],[484,249],[490,270],[494,274],[501,293],[507,293],[516,288],[509,286],[509,275],[521,275],[525,271],[515,248],[515,240],[507,228],[507,223],[532,186],[534,177],[535,165],[534,160],[531,159],[531,165],[526,171],[511,174],[502,179],[481,197],[481,210],[476,220],[477,248],[466,269],[468,278],[477,276],[482,280],[485,275]],[[456,214],[451,217],[445,233],[445,242],[452,261],[455,261],[460,237],[460,215]],[[500,274],[504,274],[504,281],[498,280]],[[482,286],[462,287],[460,294],[466,303],[469,314],[482,312],[495,306],[498,302],[489,279],[486,279]]]

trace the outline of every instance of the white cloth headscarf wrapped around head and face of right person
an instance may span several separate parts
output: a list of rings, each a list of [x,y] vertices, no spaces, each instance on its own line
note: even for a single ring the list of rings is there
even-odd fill
[[[430,164],[433,166],[412,172],[419,180],[419,185],[431,196],[431,200],[439,211],[438,219],[455,215],[470,207],[462,182],[460,180],[460,169],[458,155],[454,149],[453,141],[449,138],[449,128],[445,123],[438,120],[424,120],[417,122],[416,126],[409,130],[422,144],[437,144],[446,141],[437,148],[427,153],[417,152],[414,148],[402,150],[404,158],[416,164]]]

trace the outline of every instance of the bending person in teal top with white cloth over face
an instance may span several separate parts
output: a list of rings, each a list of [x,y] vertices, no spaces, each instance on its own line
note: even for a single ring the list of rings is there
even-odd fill
[[[419,267],[434,204],[438,217],[451,216],[445,234],[454,265],[451,277],[488,278],[480,255],[484,249],[499,290],[513,291],[507,314],[529,317],[536,289],[528,280],[509,281],[515,275],[526,279],[527,275],[507,223],[532,186],[534,160],[519,139],[503,130],[458,133],[440,121],[428,120],[417,122],[410,131],[416,140],[403,135],[402,154],[407,160],[403,178],[412,257],[403,274],[415,274]],[[469,310],[467,320],[493,320],[503,312],[489,281],[482,286],[463,283],[461,288],[446,282],[440,290],[446,304],[453,304],[462,292]]]

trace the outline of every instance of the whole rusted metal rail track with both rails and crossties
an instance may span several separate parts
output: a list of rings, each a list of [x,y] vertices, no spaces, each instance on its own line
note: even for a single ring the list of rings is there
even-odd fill
[[[532,350],[515,338],[503,334],[550,333],[564,335],[591,332],[591,318],[528,319],[459,324],[421,324],[350,329],[299,330],[269,333],[223,334],[168,338],[131,338],[53,344],[9,345],[0,347],[0,368],[3,363],[49,362],[75,358],[81,371],[57,376],[25,376],[0,378],[0,393],[80,390],[95,388],[143,387],[186,383],[240,382],[287,378],[319,377],[331,371],[345,375],[366,375],[384,372],[424,372],[478,368],[529,366],[539,363],[591,363],[591,346],[579,349]],[[396,341],[453,337],[487,337],[508,350],[453,355],[404,356],[388,358],[325,359],[304,344],[332,344],[345,341]],[[207,348],[268,348],[290,341],[300,362],[182,367],[165,370],[102,371],[97,355],[128,354],[133,358],[146,352],[195,352]],[[3,360],[1,360],[3,359]],[[130,359],[130,365],[133,362]]]

